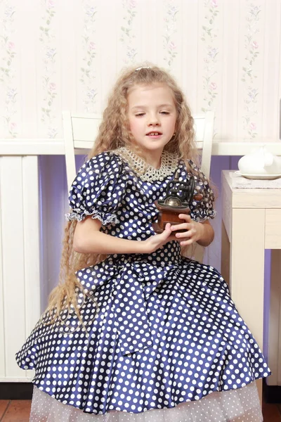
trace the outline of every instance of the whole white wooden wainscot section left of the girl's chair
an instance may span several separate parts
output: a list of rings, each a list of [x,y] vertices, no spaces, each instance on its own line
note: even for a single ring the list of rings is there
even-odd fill
[[[1,378],[29,381],[15,353],[39,318],[39,212],[37,157],[1,157],[1,248],[4,342]],[[3,335],[2,335],[3,337]]]

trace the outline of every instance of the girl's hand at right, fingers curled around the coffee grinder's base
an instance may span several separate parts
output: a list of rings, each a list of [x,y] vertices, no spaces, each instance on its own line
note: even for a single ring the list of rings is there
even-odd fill
[[[180,214],[178,217],[184,219],[185,222],[171,226],[171,232],[174,234],[173,232],[176,230],[186,230],[181,233],[174,234],[176,240],[180,241],[180,245],[187,246],[199,241],[204,235],[203,224],[193,221],[189,214]]]

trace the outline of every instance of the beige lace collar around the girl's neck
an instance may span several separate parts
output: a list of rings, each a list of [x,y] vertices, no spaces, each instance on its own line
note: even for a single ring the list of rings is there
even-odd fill
[[[167,153],[166,151],[162,153],[159,169],[152,167],[152,165],[145,162],[143,158],[139,157],[129,148],[118,148],[112,151],[112,153],[119,155],[119,157],[126,161],[131,170],[143,181],[163,180],[170,174],[173,174],[178,167],[178,155]]]

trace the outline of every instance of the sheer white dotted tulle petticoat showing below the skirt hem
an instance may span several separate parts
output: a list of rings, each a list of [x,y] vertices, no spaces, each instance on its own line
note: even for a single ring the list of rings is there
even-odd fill
[[[34,387],[30,422],[262,422],[256,383],[238,390],[212,392],[195,402],[138,414],[109,411],[86,414]]]

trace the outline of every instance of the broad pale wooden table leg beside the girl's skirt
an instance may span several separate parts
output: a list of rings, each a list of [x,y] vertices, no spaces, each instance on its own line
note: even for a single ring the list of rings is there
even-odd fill
[[[230,294],[238,312],[263,347],[263,209],[233,209],[230,243]],[[262,384],[257,383],[261,399]]]

